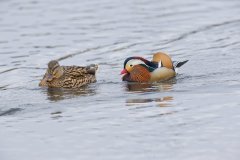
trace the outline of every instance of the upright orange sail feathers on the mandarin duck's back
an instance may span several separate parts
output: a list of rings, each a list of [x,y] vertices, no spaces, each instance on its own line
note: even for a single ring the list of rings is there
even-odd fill
[[[157,62],[157,63],[161,62],[162,63],[162,67],[173,69],[173,62],[172,62],[170,56],[165,54],[165,53],[163,53],[163,52],[155,53],[153,55],[152,61],[153,62]]]

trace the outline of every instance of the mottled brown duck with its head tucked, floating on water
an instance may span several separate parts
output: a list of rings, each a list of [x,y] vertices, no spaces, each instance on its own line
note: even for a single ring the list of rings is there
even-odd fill
[[[79,88],[83,85],[96,82],[98,66],[91,64],[86,67],[60,66],[58,61],[50,61],[48,69],[39,83],[39,86],[53,88]]]

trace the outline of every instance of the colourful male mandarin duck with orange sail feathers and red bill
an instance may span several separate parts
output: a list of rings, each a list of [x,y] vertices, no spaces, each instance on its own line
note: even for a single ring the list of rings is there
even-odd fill
[[[158,52],[153,55],[152,61],[142,57],[129,57],[124,62],[122,80],[128,82],[159,82],[176,76],[176,69],[185,64],[173,62],[169,55]]]

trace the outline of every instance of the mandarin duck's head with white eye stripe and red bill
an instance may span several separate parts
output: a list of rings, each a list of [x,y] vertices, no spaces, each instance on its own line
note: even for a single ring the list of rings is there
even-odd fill
[[[124,61],[123,70],[121,74],[130,73],[134,66],[136,65],[146,65],[148,61],[142,57],[129,57]]]

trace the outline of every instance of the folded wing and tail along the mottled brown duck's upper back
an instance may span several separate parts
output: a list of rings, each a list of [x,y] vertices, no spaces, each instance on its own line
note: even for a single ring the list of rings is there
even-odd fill
[[[69,75],[71,77],[82,77],[87,74],[95,75],[96,70],[98,69],[98,65],[91,64],[86,67],[82,66],[64,66],[64,74]]]

